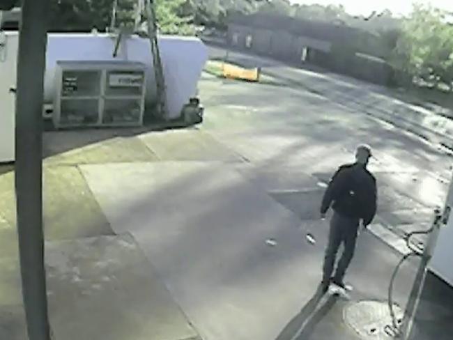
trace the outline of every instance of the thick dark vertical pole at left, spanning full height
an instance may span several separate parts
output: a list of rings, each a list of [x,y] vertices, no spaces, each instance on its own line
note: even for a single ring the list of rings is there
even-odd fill
[[[29,340],[49,340],[43,233],[43,92],[49,0],[23,0],[17,56],[15,190]]]

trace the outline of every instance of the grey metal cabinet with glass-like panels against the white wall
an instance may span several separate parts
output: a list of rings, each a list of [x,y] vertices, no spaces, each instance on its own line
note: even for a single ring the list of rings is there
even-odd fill
[[[130,61],[59,61],[54,125],[132,127],[143,125],[145,65]]]

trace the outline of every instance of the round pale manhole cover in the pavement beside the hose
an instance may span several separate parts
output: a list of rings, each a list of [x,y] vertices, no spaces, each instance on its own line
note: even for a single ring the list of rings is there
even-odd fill
[[[396,304],[393,310],[395,318],[401,323],[404,311]],[[346,324],[362,339],[392,339],[385,332],[385,326],[392,325],[387,302],[360,301],[348,304],[344,309],[343,317]]]

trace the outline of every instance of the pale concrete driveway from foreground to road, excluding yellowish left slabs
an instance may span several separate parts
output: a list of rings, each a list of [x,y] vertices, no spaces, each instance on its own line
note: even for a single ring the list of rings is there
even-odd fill
[[[406,212],[404,223],[418,226],[410,212],[429,221],[445,192],[432,176],[450,160],[297,88],[206,76],[200,93],[202,127],[139,137],[160,161],[81,166],[114,232],[134,236],[203,339],[355,339],[367,332],[370,320],[345,320],[344,311],[359,302],[385,306],[401,254],[373,233],[360,235],[351,301],[311,307],[328,233],[317,217],[325,181],[365,141],[376,154],[376,222],[393,217],[399,225]],[[426,181],[436,187],[427,192]],[[413,261],[397,280],[402,307],[416,270]],[[380,315],[379,334],[389,322]]]

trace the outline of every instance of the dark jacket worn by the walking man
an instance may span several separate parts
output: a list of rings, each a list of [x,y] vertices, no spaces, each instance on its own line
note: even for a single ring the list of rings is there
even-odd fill
[[[376,178],[362,164],[346,164],[330,180],[321,204],[321,214],[332,206],[335,212],[362,219],[368,226],[376,215]]]

